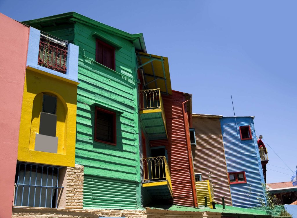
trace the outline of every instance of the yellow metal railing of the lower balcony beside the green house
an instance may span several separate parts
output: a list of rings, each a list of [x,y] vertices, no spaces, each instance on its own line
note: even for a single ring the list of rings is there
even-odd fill
[[[142,164],[144,182],[167,180],[172,189],[170,170],[165,156],[143,158]]]

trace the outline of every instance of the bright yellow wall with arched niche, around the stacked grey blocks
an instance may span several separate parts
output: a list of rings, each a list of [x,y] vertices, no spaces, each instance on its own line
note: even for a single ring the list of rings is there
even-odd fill
[[[34,151],[35,134],[39,132],[42,93],[57,96],[57,154]],[[77,85],[26,70],[18,145],[19,161],[74,166],[76,99]]]

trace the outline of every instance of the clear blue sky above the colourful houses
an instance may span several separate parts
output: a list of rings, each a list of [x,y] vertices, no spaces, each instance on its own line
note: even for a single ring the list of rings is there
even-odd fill
[[[290,0],[0,0],[0,12],[19,21],[75,11],[143,33],[149,53],[169,58],[173,89],[193,94],[194,113],[233,116],[232,94],[236,116],[255,116],[256,131],[294,171],[296,8]],[[269,147],[268,156],[267,182],[290,181]]]

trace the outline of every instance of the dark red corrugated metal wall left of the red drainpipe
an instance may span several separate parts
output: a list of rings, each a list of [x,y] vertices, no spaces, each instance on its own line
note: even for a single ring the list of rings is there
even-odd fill
[[[162,95],[168,140],[152,140],[151,146],[167,146],[171,172],[173,203],[181,206],[194,206],[193,189],[185,132],[183,105],[186,100],[182,92],[172,91],[172,95]]]

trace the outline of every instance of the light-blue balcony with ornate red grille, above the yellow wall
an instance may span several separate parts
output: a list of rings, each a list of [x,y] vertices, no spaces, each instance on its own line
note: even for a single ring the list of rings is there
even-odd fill
[[[78,46],[30,27],[26,69],[78,85]]]

